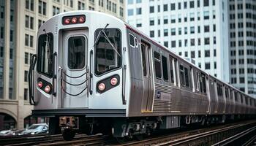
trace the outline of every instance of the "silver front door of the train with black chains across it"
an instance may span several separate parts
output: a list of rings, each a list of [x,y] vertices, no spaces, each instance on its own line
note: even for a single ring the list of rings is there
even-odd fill
[[[61,50],[62,107],[88,107],[87,36],[88,30],[64,32]]]

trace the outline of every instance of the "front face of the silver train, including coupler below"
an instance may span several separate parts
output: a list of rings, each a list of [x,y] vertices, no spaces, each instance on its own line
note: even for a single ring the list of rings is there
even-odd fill
[[[115,118],[127,116],[126,36],[123,21],[92,11],[61,13],[39,28],[29,94],[32,115],[49,117],[50,134],[109,134]]]

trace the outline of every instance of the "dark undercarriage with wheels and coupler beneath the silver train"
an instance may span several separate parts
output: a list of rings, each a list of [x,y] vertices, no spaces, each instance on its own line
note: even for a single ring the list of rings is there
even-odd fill
[[[208,126],[214,123],[225,123],[246,119],[245,115],[182,115],[163,117],[111,118],[85,116],[56,116],[50,118],[49,134],[62,134],[64,139],[71,140],[75,134],[112,135],[119,139],[132,139],[142,135],[151,135],[158,129],[181,128],[191,125]]]

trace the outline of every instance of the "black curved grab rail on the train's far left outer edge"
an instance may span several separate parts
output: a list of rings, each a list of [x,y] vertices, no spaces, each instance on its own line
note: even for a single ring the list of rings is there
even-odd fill
[[[29,104],[31,105],[36,105],[37,103],[34,101],[34,76],[32,75],[32,73],[34,72],[34,66],[37,63],[37,55],[32,55],[32,58],[30,60],[30,66],[29,66],[29,74],[28,74],[28,78],[29,78]]]

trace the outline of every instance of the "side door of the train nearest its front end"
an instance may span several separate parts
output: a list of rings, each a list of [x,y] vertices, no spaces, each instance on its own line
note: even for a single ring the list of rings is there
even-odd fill
[[[141,59],[143,65],[143,98],[141,112],[152,112],[154,91],[151,68],[151,47],[144,42],[141,42]]]

